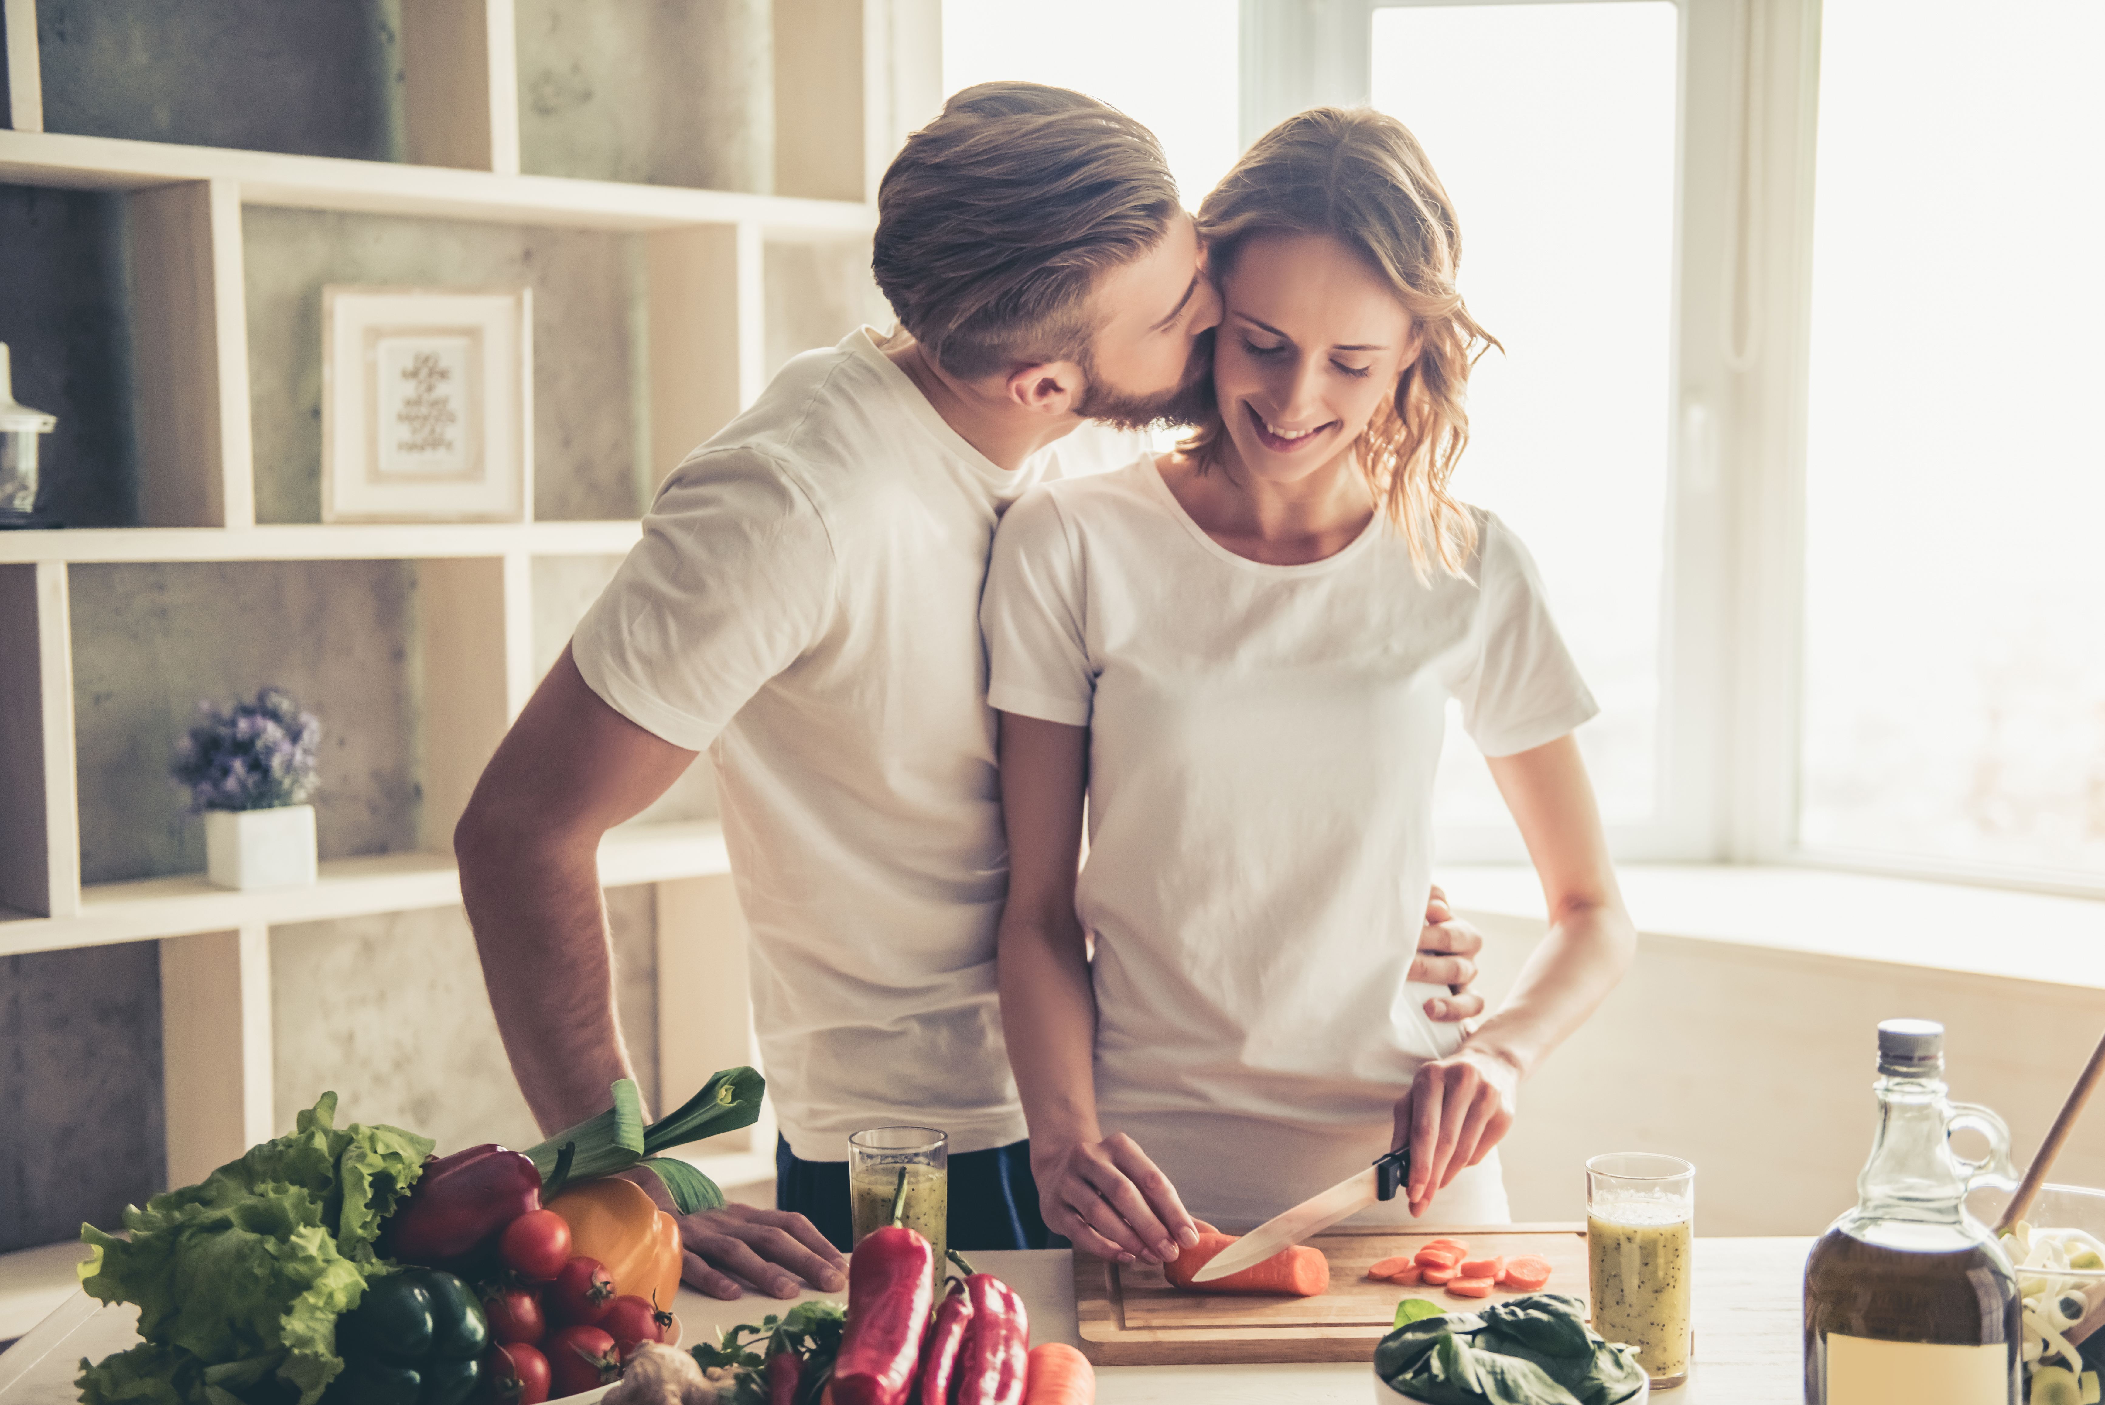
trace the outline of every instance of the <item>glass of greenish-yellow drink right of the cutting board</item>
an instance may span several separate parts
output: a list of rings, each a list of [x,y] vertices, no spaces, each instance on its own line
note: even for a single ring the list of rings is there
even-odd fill
[[[1585,1163],[1593,1331],[1638,1348],[1652,1390],[1688,1380],[1697,1169],[1680,1156],[1617,1152]]]

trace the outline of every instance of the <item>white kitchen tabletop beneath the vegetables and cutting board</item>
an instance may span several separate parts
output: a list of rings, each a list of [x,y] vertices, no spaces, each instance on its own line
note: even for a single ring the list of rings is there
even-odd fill
[[[1810,1239],[1699,1239],[1695,1262],[1697,1352],[1688,1384],[1661,1392],[1661,1405],[1789,1405],[1800,1384],[1800,1279]],[[1074,1255],[975,1253],[977,1268],[1008,1281],[1031,1314],[1034,1342],[1074,1342]],[[808,1293],[819,1298],[821,1293]],[[787,1300],[747,1293],[735,1302],[680,1289],[676,1312],[686,1340],[781,1312]],[[137,1312],[95,1308],[74,1298],[0,1354],[0,1405],[69,1405],[80,1357],[101,1359],[137,1338]],[[589,1405],[592,1397],[577,1397]],[[1366,1365],[1219,1365],[1105,1367],[1101,1405],[1366,1405]]]

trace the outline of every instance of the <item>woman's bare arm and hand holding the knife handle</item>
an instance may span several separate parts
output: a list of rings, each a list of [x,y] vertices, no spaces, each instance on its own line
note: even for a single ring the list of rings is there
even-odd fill
[[[1564,735],[1518,756],[1495,756],[1490,775],[1535,859],[1549,935],[1499,1011],[1455,1057],[1421,1066],[1410,1091],[1396,1100],[1391,1144],[1410,1142],[1412,1213],[1505,1137],[1520,1081],[1587,1022],[1638,950],[1579,744]]]

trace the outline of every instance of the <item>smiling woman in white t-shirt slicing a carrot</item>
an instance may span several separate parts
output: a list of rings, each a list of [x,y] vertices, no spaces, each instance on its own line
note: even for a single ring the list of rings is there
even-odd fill
[[[1518,1083],[1636,935],[1570,735],[1593,699],[1526,550],[1446,491],[1490,345],[1455,211],[1400,122],[1314,110],[1198,219],[1225,299],[1198,432],[1010,508],[983,605],[1046,1224],[1168,1260],[1194,1213],[1250,1228],[1404,1142],[1408,1196],[1358,1222],[1507,1222]],[[1551,916],[1469,1034],[1404,984],[1448,697]]]

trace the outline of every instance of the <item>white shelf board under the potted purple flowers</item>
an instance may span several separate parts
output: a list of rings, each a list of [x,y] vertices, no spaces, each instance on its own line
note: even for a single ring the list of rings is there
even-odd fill
[[[600,845],[600,887],[728,872],[724,832],[716,822],[615,830]],[[457,902],[461,872],[453,855],[427,851],[328,859],[314,887],[267,893],[213,887],[204,874],[97,883],[82,891],[78,916],[44,918],[0,910],[0,956],[444,908]]]

